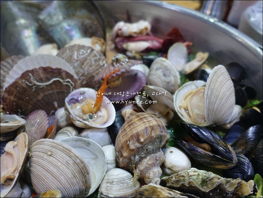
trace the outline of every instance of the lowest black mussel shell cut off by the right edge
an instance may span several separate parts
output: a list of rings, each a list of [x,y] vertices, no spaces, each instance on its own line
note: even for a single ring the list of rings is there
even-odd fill
[[[263,169],[263,154],[262,154],[262,139],[258,142],[256,149],[254,150],[252,157],[251,157],[251,164],[254,168],[255,174],[259,174],[263,177],[262,169]]]

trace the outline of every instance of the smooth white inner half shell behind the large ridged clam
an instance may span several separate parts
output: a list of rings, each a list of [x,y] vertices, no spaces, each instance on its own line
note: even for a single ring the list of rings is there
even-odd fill
[[[75,149],[89,166],[92,179],[90,195],[98,188],[107,170],[107,160],[101,146],[91,139],[76,136],[64,138],[61,142]]]

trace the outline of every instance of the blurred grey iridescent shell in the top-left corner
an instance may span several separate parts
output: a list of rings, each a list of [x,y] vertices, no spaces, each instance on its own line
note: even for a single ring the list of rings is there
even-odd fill
[[[1,3],[1,46],[10,55],[32,55],[41,45],[53,42],[37,23],[43,6],[32,2]]]

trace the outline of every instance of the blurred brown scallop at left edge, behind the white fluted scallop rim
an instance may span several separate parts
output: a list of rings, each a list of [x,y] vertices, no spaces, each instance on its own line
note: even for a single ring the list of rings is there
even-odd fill
[[[9,71],[11,71],[11,69],[13,69],[13,67],[21,60],[25,58],[24,56],[12,56],[9,57],[7,59],[5,59],[4,61],[2,61],[0,63],[0,68],[1,68],[1,73],[0,73],[0,100],[3,96],[3,92],[4,92],[4,83],[6,81],[6,76],[9,74]]]

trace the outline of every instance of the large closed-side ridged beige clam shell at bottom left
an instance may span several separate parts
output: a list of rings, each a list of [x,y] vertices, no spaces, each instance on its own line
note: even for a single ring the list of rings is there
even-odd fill
[[[37,193],[60,190],[62,197],[86,197],[91,173],[72,147],[51,139],[36,141],[30,149],[30,175]]]

